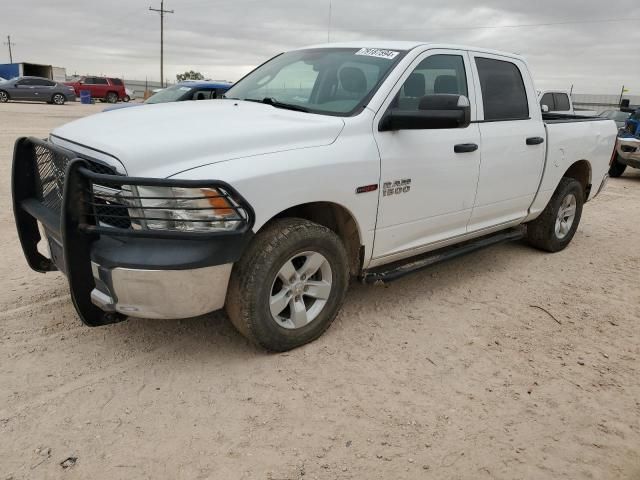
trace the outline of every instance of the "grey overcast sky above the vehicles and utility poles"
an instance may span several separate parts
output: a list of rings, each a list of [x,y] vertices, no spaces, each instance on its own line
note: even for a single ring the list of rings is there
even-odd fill
[[[158,14],[144,0],[4,0],[0,63],[159,79]],[[640,94],[637,0],[332,0],[331,41],[460,43],[525,55],[539,87]],[[167,0],[165,77],[237,80],[287,49],[327,41],[329,0]],[[580,22],[580,23],[579,23]],[[552,24],[552,25],[541,25]],[[491,28],[490,28],[491,27]],[[501,27],[501,28],[493,28]]]

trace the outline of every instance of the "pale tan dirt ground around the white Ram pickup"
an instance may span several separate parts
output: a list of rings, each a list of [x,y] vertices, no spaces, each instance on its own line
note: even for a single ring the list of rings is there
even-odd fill
[[[354,284],[275,355],[223,314],[85,327],[29,270],[13,142],[101,108],[0,105],[0,480],[640,478],[640,171],[567,250]]]

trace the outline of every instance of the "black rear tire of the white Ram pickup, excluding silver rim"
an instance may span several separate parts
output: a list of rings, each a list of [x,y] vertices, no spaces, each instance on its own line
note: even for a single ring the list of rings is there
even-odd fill
[[[571,195],[575,198],[575,216],[569,230],[564,234],[558,233],[556,221],[560,215],[560,209],[563,202]],[[540,216],[527,224],[529,244],[547,252],[563,250],[569,245],[578,229],[583,206],[584,191],[580,182],[573,178],[563,177]]]

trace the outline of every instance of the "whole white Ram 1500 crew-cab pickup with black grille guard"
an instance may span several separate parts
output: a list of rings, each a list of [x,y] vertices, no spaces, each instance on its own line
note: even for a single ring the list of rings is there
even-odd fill
[[[294,50],[226,96],[17,141],[25,256],[65,273],[86,324],[224,307],[257,344],[297,347],[350,278],[522,236],[562,250],[616,137],[610,120],[543,115],[523,58],[451,45]]]

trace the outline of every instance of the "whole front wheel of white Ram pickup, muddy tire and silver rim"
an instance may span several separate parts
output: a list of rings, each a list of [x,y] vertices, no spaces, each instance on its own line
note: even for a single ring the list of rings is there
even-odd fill
[[[333,231],[307,220],[276,220],[234,266],[225,308],[245,337],[283,352],[329,328],[348,283],[347,253]]]

